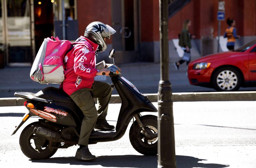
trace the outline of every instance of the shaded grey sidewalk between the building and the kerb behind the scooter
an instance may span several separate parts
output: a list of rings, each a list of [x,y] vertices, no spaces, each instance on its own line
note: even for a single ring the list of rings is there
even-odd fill
[[[160,64],[155,63],[131,63],[120,65],[122,76],[133,83],[143,93],[157,93],[160,80]],[[169,65],[170,80],[177,85],[190,85],[186,77],[186,66],[181,66],[176,71],[172,63]],[[59,87],[59,84],[39,84],[30,79],[31,67],[5,67],[0,69],[0,97],[15,97],[15,91],[37,92],[49,86]],[[109,77],[99,76],[96,80],[111,83]],[[180,84],[182,82],[182,84]],[[175,85],[175,84],[174,84]],[[198,87],[197,87],[198,88]],[[113,94],[117,94],[114,90]]]

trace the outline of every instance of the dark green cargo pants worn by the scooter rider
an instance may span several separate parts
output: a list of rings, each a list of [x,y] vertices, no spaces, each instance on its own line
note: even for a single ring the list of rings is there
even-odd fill
[[[97,121],[98,113],[101,113],[98,119],[106,119],[111,93],[112,89],[110,84],[94,81],[91,89],[82,88],[70,95],[84,114],[78,145],[88,145],[89,137]],[[93,98],[97,98],[97,108]]]

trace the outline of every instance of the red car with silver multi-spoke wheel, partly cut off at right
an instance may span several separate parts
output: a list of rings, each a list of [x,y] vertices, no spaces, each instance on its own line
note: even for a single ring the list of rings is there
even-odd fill
[[[188,65],[189,83],[217,91],[256,86],[256,40],[234,52],[208,55]]]

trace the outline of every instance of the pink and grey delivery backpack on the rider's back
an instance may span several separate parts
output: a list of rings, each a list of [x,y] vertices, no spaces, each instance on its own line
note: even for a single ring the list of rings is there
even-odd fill
[[[30,71],[30,78],[40,84],[61,84],[64,81],[65,60],[73,44],[58,37],[44,39]],[[66,58],[65,58],[66,57]],[[72,69],[69,69],[70,71]]]

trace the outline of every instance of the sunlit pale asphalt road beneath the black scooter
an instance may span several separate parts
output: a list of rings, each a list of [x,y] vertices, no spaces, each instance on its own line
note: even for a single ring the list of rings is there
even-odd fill
[[[157,106],[157,103],[154,103]],[[121,104],[110,104],[107,120],[116,124]],[[177,167],[222,168],[256,167],[256,105],[254,101],[174,102],[174,129]],[[15,135],[23,106],[0,107],[0,165],[9,167],[157,167],[157,156],[143,156],[131,146],[128,131],[113,142],[89,145],[93,162],[76,160],[76,146],[59,149],[50,159],[30,160],[19,148],[19,135],[30,118]],[[151,113],[157,115],[157,113]],[[128,126],[129,128],[129,126]],[[168,132],[167,132],[168,133]],[[168,147],[167,147],[168,149]]]

